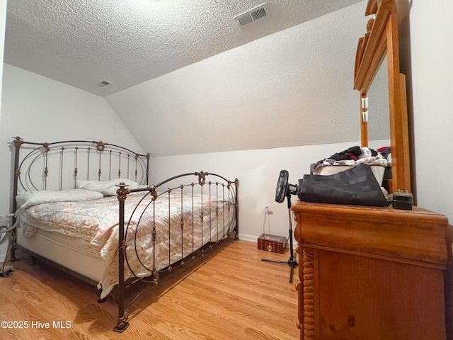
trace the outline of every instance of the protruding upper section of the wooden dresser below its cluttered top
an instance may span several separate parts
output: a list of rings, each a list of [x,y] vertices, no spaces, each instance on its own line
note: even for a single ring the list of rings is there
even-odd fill
[[[445,268],[448,220],[444,215],[418,207],[398,210],[301,201],[292,210],[298,212],[296,220],[304,223],[294,232],[299,242]]]

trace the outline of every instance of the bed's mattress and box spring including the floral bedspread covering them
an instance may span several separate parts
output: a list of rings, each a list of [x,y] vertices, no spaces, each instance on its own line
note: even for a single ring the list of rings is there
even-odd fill
[[[209,198],[209,199],[208,199]],[[234,209],[219,197],[162,193],[154,202],[135,193],[125,200],[125,278],[149,276],[208,242],[227,236]],[[18,210],[18,244],[99,282],[101,298],[117,284],[118,202],[51,202]],[[101,261],[99,261],[101,259]],[[133,273],[132,273],[133,272]]]

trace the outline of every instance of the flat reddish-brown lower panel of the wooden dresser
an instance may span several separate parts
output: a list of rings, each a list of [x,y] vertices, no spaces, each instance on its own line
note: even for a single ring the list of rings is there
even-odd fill
[[[333,251],[319,263],[321,339],[445,339],[442,271]]]

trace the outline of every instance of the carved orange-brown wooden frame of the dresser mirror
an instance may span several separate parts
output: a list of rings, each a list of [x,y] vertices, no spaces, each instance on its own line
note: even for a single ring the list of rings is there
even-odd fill
[[[389,121],[391,176],[389,192],[411,192],[406,77],[399,72],[398,17],[395,0],[369,0],[365,16],[375,14],[367,23],[367,33],[359,39],[355,56],[354,89],[360,91],[360,138],[368,145],[368,127],[362,113],[362,99],[386,53],[389,75]]]

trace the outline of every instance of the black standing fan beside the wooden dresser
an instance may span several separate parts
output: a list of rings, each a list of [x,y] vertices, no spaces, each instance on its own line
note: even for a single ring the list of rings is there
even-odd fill
[[[288,183],[289,173],[286,170],[280,171],[280,176],[277,181],[277,188],[275,189],[275,201],[283,203],[285,197],[288,201],[288,215],[289,215],[289,259],[288,261],[278,261],[273,259],[261,259],[261,261],[287,263],[290,268],[289,283],[292,283],[292,276],[294,275],[294,268],[297,267],[297,261],[294,259],[294,249],[292,246],[292,219],[291,219],[291,195],[297,194],[297,186]]]

